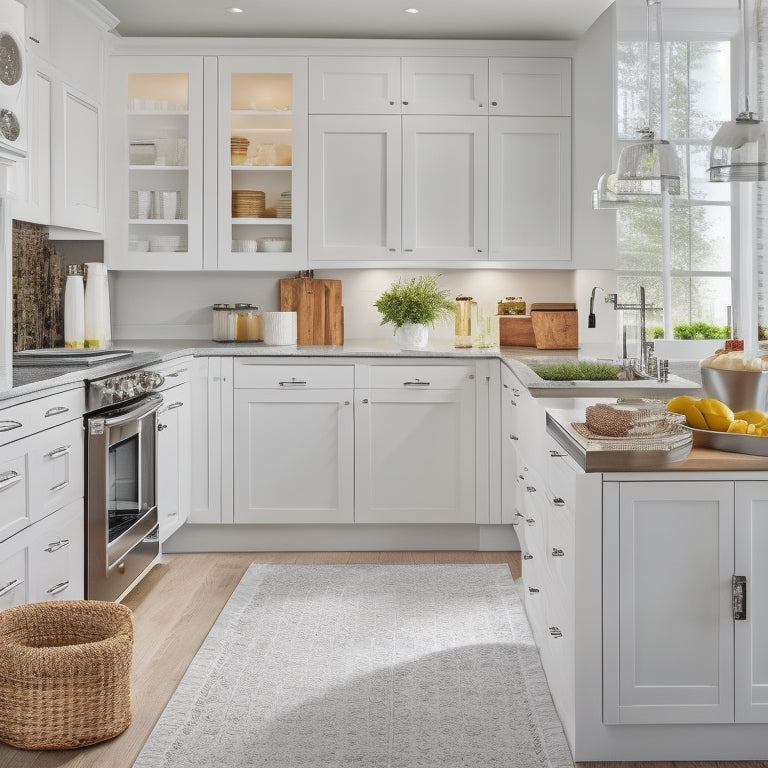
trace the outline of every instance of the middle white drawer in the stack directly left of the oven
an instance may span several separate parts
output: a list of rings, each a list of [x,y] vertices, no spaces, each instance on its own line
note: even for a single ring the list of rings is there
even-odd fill
[[[83,497],[83,423],[46,429],[29,442],[29,519],[35,521]]]

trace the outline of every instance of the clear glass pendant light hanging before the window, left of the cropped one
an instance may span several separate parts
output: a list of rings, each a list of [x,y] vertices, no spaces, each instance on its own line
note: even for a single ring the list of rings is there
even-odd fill
[[[646,0],[648,11],[648,127],[638,131],[641,141],[625,147],[616,166],[617,195],[680,194],[680,160],[666,139],[657,139],[651,125],[653,88],[651,77],[652,30],[659,48],[661,109],[664,106],[664,49],[661,37],[661,0]]]

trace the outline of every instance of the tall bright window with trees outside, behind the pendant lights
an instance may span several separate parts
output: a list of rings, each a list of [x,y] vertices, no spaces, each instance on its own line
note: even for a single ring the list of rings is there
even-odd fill
[[[648,312],[649,338],[688,338],[694,324],[726,326],[733,305],[735,185],[710,183],[706,174],[710,140],[731,119],[732,46],[728,40],[678,40],[666,32],[664,38],[665,98],[658,61],[652,60],[651,127],[659,138],[663,124],[661,137],[676,148],[681,194],[618,211],[618,296],[622,304],[636,304],[644,286],[646,302],[655,308]],[[645,40],[619,40],[619,151],[648,124],[647,63]]]

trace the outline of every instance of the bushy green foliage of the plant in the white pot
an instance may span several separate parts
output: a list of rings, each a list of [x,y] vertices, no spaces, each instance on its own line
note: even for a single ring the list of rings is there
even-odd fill
[[[373,305],[381,313],[381,325],[392,323],[395,328],[405,323],[434,326],[437,320],[453,317],[456,304],[448,298],[448,290],[439,287],[437,278],[437,275],[420,275],[393,283]]]

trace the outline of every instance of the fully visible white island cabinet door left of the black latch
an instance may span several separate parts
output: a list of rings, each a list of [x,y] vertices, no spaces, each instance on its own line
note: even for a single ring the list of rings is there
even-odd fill
[[[733,483],[606,483],[603,516],[604,721],[733,722]]]

